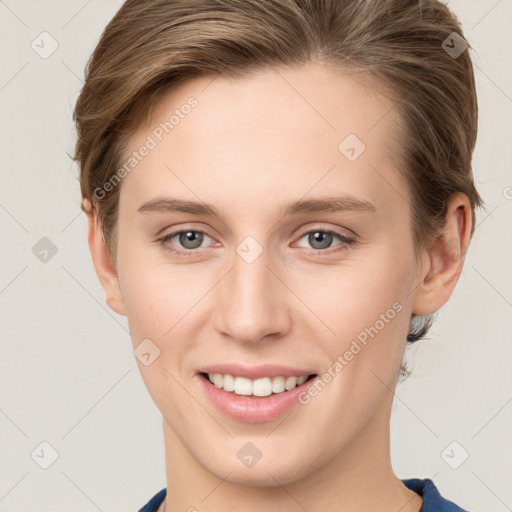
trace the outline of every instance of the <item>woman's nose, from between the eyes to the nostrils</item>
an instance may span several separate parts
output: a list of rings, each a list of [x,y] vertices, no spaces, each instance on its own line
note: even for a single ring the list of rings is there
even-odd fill
[[[291,326],[290,292],[265,250],[248,262],[235,253],[217,287],[215,328],[233,340],[256,344],[285,335]]]

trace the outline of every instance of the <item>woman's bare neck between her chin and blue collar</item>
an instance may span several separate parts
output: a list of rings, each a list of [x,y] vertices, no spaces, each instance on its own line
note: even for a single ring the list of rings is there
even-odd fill
[[[418,512],[422,499],[395,476],[390,459],[392,395],[344,449],[315,470],[284,485],[238,485],[199,464],[164,420],[166,510],[201,512]],[[384,423],[384,424],[383,424]],[[312,464],[314,465],[314,463]]]

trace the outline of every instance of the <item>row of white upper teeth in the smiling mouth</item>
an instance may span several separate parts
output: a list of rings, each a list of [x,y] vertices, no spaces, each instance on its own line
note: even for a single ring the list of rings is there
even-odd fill
[[[219,389],[234,392],[236,395],[269,396],[272,393],[283,393],[304,384],[308,375],[300,377],[263,377],[261,379],[247,379],[234,377],[221,373],[209,373],[208,379]]]

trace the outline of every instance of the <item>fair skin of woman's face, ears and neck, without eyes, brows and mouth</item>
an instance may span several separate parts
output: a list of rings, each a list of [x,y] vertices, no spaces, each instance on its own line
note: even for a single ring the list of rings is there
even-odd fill
[[[134,347],[149,338],[160,350],[149,366],[138,364],[163,416],[166,510],[418,512],[421,498],[391,467],[392,390],[411,314],[437,311],[457,283],[471,228],[467,197],[453,196],[443,241],[417,266],[411,198],[387,138],[394,114],[378,89],[316,64],[196,78],[165,94],[129,150],[190,96],[198,106],[123,179],[116,266],[88,216],[108,305],[127,315]],[[338,150],[350,133],[366,145],[353,162]],[[289,202],[342,195],[375,211],[282,215]],[[219,218],[137,211],[163,196],[209,203]],[[206,232],[200,248],[179,236],[158,242],[179,229]],[[334,237],[319,248],[304,234],[317,230],[356,241]],[[247,236],[263,248],[251,263],[236,252]],[[199,385],[200,366],[223,362],[321,375],[396,302],[401,311],[378,335],[286,416],[234,419]],[[252,467],[237,457],[248,442],[262,454]]]

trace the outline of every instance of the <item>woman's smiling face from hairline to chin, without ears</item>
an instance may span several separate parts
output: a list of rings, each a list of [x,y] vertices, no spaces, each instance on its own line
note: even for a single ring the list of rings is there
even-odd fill
[[[394,116],[311,64],[186,82],[131,138],[119,312],[182,462],[284,484],[388,436],[417,270]]]

